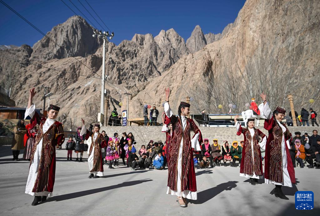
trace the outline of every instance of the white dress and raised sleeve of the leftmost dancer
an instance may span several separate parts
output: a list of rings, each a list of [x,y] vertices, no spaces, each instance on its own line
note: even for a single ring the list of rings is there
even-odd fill
[[[35,114],[35,104],[32,104],[30,108],[26,109],[26,112],[24,114],[24,119],[26,119],[28,116],[32,118]],[[43,133],[47,132],[49,127],[55,122],[54,119],[47,119],[45,123],[43,124],[42,130]],[[33,187],[35,186],[36,182],[36,177],[38,175],[38,170],[39,170],[39,164],[40,164],[40,155],[41,155],[41,150],[42,150],[42,140],[40,140],[39,144],[37,145],[36,152],[34,154],[33,160],[30,161],[30,169],[29,169],[29,175],[28,175],[28,180],[27,180],[27,185],[26,185],[26,194],[30,194],[32,196],[46,196],[46,197],[52,197],[53,194],[52,192],[48,191],[42,191],[42,192],[32,192]]]

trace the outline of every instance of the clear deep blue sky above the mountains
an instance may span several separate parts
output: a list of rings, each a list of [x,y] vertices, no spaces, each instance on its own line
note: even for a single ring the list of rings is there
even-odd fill
[[[3,0],[36,27],[47,33],[53,26],[63,23],[75,15],[60,0]],[[78,15],[83,16],[69,0],[63,0]],[[78,0],[71,0],[93,24],[100,26],[85,11]],[[245,0],[87,0],[105,24],[114,31],[111,42],[118,45],[122,40],[131,40],[135,33],[153,36],[164,29],[174,28],[185,40],[196,25],[204,34],[221,33],[223,28],[234,22]],[[80,2],[101,23],[84,0]],[[0,44],[33,46],[43,35],[20,19],[0,3]],[[88,21],[88,20],[87,20]],[[90,22],[89,22],[90,23]],[[101,26],[104,25],[101,23]]]

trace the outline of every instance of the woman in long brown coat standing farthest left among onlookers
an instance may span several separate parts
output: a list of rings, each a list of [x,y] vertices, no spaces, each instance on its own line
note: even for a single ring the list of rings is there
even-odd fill
[[[14,138],[12,139],[11,150],[13,159],[19,161],[19,153],[21,149],[24,149],[24,135],[27,133],[26,126],[24,125],[24,120],[19,119],[16,126],[13,128]]]

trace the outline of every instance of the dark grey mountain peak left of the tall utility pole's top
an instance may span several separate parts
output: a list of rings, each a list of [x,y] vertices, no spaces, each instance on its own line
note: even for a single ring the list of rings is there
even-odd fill
[[[80,16],[72,16],[63,24],[52,28],[47,36],[36,42],[31,59],[49,60],[93,54],[102,41],[92,37],[93,28]]]

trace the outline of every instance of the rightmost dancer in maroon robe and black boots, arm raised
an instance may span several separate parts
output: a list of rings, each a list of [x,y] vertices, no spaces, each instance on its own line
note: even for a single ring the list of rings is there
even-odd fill
[[[275,196],[288,200],[281,187],[292,187],[296,180],[289,153],[292,135],[282,123],[286,111],[277,107],[271,112],[267,95],[263,92],[260,96],[263,103],[259,105],[259,110],[261,117],[265,119],[264,128],[269,132],[265,152],[265,183],[275,184]]]

